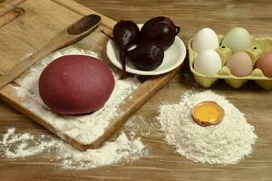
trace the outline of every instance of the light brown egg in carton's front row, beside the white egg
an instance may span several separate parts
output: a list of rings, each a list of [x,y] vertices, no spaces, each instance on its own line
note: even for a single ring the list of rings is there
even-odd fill
[[[253,64],[247,52],[236,52],[227,61],[226,66],[231,74],[246,77],[253,70]]]

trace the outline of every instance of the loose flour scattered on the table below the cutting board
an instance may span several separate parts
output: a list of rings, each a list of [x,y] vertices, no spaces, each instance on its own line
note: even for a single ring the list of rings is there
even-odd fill
[[[121,133],[113,142],[105,142],[101,148],[88,149],[81,152],[65,144],[61,139],[52,136],[34,136],[30,133],[15,133],[8,129],[0,141],[0,150],[6,158],[30,157],[39,153],[55,152],[61,167],[67,169],[88,169],[126,163],[147,154],[140,138],[130,140]]]

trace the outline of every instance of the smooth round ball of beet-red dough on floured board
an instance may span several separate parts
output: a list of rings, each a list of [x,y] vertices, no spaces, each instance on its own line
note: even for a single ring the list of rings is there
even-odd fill
[[[112,71],[102,61],[85,55],[66,55],[42,72],[39,92],[56,113],[75,115],[99,110],[114,88]]]

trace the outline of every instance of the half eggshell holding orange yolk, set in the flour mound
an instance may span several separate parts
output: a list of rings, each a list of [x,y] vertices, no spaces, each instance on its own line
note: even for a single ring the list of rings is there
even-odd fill
[[[214,101],[203,101],[192,110],[193,119],[201,126],[219,124],[224,116],[224,110]]]

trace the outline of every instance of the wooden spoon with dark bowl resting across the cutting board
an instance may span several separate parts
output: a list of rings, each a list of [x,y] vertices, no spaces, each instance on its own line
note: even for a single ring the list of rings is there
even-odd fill
[[[15,65],[15,67],[10,71],[7,71],[5,74],[1,75],[0,89],[5,87],[5,85],[11,81],[14,81],[15,78],[24,73],[24,71],[27,71],[32,65],[34,65],[35,62],[38,62],[47,54],[83,39],[83,37],[97,28],[101,22],[101,16],[97,14],[89,14],[84,16],[78,22],[64,29],[61,33],[53,37],[43,49],[38,50],[33,55],[24,59],[24,61]]]

